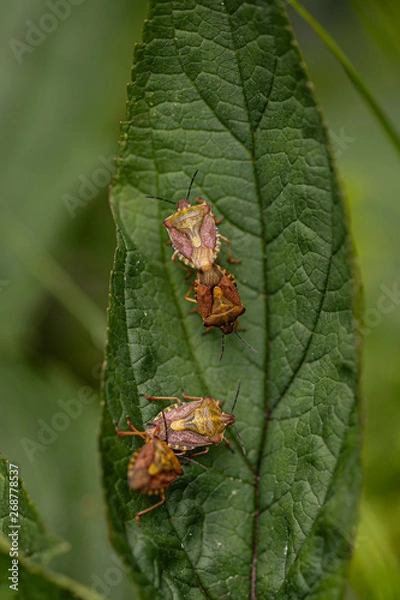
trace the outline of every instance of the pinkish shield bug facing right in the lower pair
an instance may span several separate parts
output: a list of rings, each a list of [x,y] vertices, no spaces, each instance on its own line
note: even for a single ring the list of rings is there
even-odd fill
[[[232,411],[235,408],[239,390],[240,381]],[[226,428],[235,423],[235,416],[222,411],[220,400],[214,400],[211,396],[204,398],[188,396],[183,390],[182,398],[189,402],[182,402],[177,396],[148,396],[146,394],[141,394],[141,396],[147,400],[172,400],[175,402],[172,406],[162,410],[146,426],[147,433],[154,435],[154,432],[157,432],[157,436],[170,448],[184,454],[188,450],[206,446],[205,450],[193,456],[205,454],[211,444],[218,445],[222,441],[230,448],[224,434]]]

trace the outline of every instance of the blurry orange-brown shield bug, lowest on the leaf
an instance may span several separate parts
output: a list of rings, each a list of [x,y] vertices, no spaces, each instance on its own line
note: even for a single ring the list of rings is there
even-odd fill
[[[127,417],[127,422],[130,431],[121,431],[114,423],[117,435],[138,435],[145,442],[144,446],[132,454],[129,461],[129,487],[142,494],[161,497],[156,504],[136,513],[136,521],[140,526],[140,517],[165,503],[166,490],[177,477],[183,474],[183,471],[177,456],[158,436],[158,425],[154,427],[152,435],[150,435],[147,431],[138,431],[132,425],[129,417]]]

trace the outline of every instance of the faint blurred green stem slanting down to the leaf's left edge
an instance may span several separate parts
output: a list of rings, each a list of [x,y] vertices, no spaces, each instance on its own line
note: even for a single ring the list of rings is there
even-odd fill
[[[82,325],[93,344],[104,349],[107,323],[103,311],[82,291],[62,266],[41,247],[28,227],[10,211],[3,213],[0,233],[4,245],[31,275]]]

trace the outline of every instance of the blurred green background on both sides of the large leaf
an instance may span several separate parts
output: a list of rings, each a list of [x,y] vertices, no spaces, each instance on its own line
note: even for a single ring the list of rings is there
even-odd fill
[[[0,450],[19,465],[48,528],[71,545],[52,568],[118,600],[131,594],[108,541],[97,392],[115,237],[107,187],[146,3],[66,2],[69,12],[49,19],[50,4],[0,8]],[[305,6],[400,130],[400,4]],[[364,491],[346,597],[398,599],[399,156],[337,61],[289,12],[348,195],[365,287]],[[96,395],[84,404],[87,387]]]

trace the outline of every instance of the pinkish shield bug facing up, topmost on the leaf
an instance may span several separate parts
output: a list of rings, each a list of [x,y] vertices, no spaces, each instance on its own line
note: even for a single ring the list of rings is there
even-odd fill
[[[232,259],[230,242],[228,238],[221,236],[217,227],[220,221],[216,221],[211,206],[199,197],[196,198],[197,206],[189,202],[197,173],[198,171],[192,177],[187,198],[179,200],[178,210],[164,221],[174,248],[172,260],[175,261],[175,258],[179,258],[192,269],[200,269],[215,261],[221,249],[221,240],[223,240],[228,246],[229,262],[240,262]],[[175,204],[172,200],[158,196],[147,196],[147,198]]]

